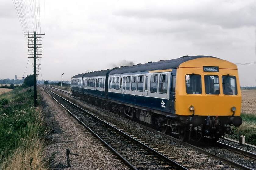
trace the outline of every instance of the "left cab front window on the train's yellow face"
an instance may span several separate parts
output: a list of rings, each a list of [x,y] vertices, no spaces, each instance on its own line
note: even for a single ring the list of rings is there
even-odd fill
[[[187,94],[202,94],[201,75],[187,74],[185,79]]]

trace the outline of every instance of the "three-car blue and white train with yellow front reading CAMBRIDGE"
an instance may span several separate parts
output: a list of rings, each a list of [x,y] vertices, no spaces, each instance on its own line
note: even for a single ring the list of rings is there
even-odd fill
[[[180,140],[218,140],[242,119],[237,66],[212,56],[122,66],[71,78],[73,96]]]

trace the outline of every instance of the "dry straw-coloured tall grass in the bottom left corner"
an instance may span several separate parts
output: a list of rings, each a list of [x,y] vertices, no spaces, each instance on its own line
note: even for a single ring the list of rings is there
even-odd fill
[[[26,136],[20,139],[18,146],[11,154],[1,160],[1,170],[46,169],[45,145],[44,139],[41,138],[41,132],[45,132],[41,109],[35,110],[32,117],[34,121],[28,121],[27,128],[22,132],[26,134]],[[3,154],[1,156],[3,156]]]

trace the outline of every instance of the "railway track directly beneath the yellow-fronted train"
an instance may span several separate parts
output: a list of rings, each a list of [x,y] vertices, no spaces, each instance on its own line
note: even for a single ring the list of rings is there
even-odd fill
[[[111,112],[109,112],[109,113],[111,113]],[[113,114],[113,113],[111,113],[111,114]],[[113,115],[118,116],[118,115],[116,115],[116,114],[113,114]],[[118,116],[118,117],[120,117],[120,116]],[[122,117],[122,118],[123,118],[123,117]],[[251,164],[250,161],[252,162],[252,166],[248,167],[248,166],[243,165],[241,162],[238,163],[238,162],[236,162],[236,161],[232,161],[232,160],[230,160],[230,159],[225,158],[225,156],[221,156],[221,155],[218,155],[218,154],[216,154],[216,153],[213,153],[213,152],[209,151],[209,150],[211,150],[211,149],[208,149],[208,148],[205,148],[205,147],[204,147],[204,148],[200,148],[200,147],[197,147],[197,146],[188,144],[188,143],[186,143],[186,142],[182,142],[182,141],[180,141],[179,139],[176,139],[176,138],[174,138],[174,137],[172,137],[172,136],[169,136],[169,135],[166,135],[166,134],[162,134],[162,132],[159,132],[159,131],[157,131],[157,130],[155,130],[155,129],[152,129],[152,128],[149,128],[149,127],[147,127],[147,126],[143,126],[143,125],[141,125],[141,124],[138,124],[137,122],[131,121],[130,119],[126,119],[126,120],[127,120],[127,121],[130,121],[130,122],[132,122],[132,123],[134,123],[134,124],[137,124],[137,125],[143,127],[144,129],[147,129],[147,130],[153,131],[154,133],[160,134],[160,135],[162,135],[163,137],[165,137],[165,138],[167,138],[167,139],[170,139],[170,140],[172,140],[172,141],[179,142],[180,144],[183,144],[183,145],[185,145],[185,146],[191,147],[191,148],[193,148],[194,150],[197,150],[197,151],[199,151],[199,152],[201,152],[201,153],[204,153],[204,154],[206,154],[206,155],[208,155],[208,156],[210,156],[210,157],[213,157],[213,158],[215,158],[215,159],[219,159],[219,160],[221,160],[221,161],[223,161],[223,162],[226,162],[226,163],[230,164],[230,165],[233,166],[233,167],[240,168],[240,169],[249,169],[249,170],[255,169],[255,163],[254,163],[254,162],[255,162],[256,154],[254,154],[254,153],[251,153],[251,152],[245,151],[245,150],[243,150],[243,149],[236,148],[236,147],[233,147],[233,146],[230,146],[230,145],[221,143],[221,142],[217,142],[217,144],[214,146],[214,147],[218,146],[219,149],[225,148],[225,149],[228,149],[228,150],[230,150],[230,151],[232,151],[232,152],[236,152],[236,153],[238,153],[238,154],[244,155],[244,157],[246,157],[246,159],[242,159],[242,161],[241,161],[242,163],[246,162],[246,163],[245,163],[246,165],[250,165],[250,164]],[[216,149],[215,149],[215,150],[216,150]],[[226,151],[222,151],[222,152],[226,152]],[[227,152],[227,153],[228,153],[228,152]],[[239,157],[241,157],[241,156],[239,155]],[[254,166],[253,166],[253,164],[254,164]]]

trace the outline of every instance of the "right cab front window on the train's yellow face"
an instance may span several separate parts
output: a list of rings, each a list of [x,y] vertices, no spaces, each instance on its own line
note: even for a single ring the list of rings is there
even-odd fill
[[[237,95],[236,77],[222,76],[222,88],[225,95]]]

